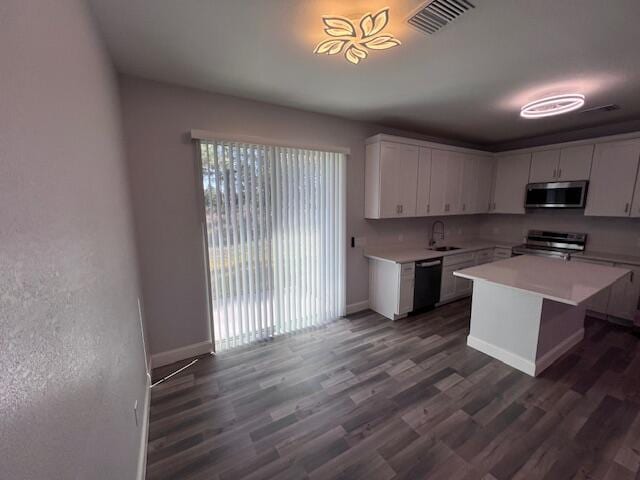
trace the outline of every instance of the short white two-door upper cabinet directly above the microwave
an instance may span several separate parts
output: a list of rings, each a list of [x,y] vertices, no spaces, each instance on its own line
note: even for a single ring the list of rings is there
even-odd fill
[[[530,183],[587,180],[591,172],[593,145],[534,152]]]

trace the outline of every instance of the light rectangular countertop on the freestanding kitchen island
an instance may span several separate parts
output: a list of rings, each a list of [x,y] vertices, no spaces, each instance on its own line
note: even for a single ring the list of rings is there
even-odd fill
[[[611,286],[629,272],[630,270],[625,268],[606,265],[521,255],[465,268],[453,274],[576,306]]]

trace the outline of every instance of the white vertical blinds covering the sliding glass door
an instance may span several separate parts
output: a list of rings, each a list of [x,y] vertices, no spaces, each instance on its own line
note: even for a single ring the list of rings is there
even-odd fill
[[[342,153],[200,141],[217,351],[344,315]]]

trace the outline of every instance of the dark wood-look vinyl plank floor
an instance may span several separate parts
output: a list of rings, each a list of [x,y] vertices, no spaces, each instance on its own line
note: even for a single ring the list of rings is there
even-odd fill
[[[466,346],[469,313],[368,311],[203,357],[152,390],[147,478],[640,478],[636,336],[587,319],[531,378]]]

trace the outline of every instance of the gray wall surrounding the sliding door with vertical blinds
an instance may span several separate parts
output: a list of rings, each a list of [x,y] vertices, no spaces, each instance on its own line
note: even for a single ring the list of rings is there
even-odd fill
[[[209,338],[190,129],[348,147],[347,235],[426,242],[432,220],[364,220],[364,140],[380,132],[432,138],[133,77],[121,77],[120,89],[152,353]],[[471,235],[478,222],[461,217],[447,227]],[[348,249],[347,304],[368,296],[367,261]]]

